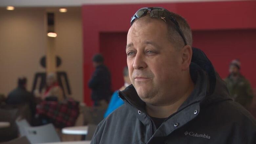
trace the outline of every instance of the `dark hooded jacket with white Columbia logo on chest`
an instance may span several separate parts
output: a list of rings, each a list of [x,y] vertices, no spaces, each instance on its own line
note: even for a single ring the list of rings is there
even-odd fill
[[[98,125],[91,143],[255,144],[255,119],[232,101],[224,81],[199,49],[193,48],[190,73],[195,89],[158,129],[131,85],[119,92],[125,104]]]

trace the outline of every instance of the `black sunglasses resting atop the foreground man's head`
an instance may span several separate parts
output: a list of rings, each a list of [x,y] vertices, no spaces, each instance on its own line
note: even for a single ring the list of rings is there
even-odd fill
[[[141,8],[141,9],[139,9],[138,11],[136,11],[136,13],[131,18],[131,25],[133,24],[135,19],[140,18],[142,16],[145,16],[148,11],[150,12],[150,17],[152,17],[152,18],[160,18],[164,22],[166,22],[166,18],[169,18],[175,24],[176,30],[181,35],[185,45],[187,45],[186,39],[184,37],[183,32],[181,31],[181,28],[180,28],[178,22],[175,20],[175,18],[172,16],[172,14],[168,10],[166,10],[164,8],[151,7],[151,8]]]

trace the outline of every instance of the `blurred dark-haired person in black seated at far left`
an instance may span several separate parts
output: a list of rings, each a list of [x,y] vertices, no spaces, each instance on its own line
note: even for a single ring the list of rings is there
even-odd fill
[[[34,96],[32,93],[27,91],[26,77],[18,78],[18,87],[8,94],[6,104],[28,104],[30,106],[32,116],[35,114]]]

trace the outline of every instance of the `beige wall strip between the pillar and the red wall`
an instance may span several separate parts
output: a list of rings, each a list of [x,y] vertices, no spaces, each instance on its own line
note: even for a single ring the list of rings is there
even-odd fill
[[[55,31],[55,52],[62,60],[56,70],[67,72],[72,97],[83,101],[81,9],[68,9],[66,13],[55,12]]]

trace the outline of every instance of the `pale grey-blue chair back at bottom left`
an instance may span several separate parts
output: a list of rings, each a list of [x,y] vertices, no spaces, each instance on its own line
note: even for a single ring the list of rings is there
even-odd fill
[[[53,124],[37,127],[24,127],[25,135],[32,144],[60,142],[60,138],[54,129]]]

